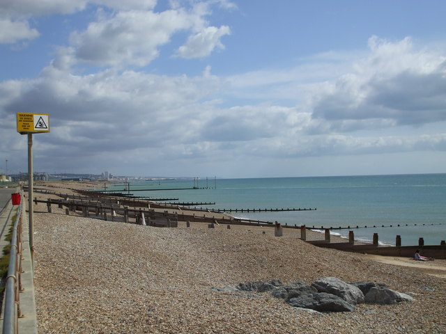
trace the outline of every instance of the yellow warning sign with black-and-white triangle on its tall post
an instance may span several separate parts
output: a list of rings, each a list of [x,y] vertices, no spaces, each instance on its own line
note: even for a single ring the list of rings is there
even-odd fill
[[[29,248],[34,254],[33,238],[33,134],[49,132],[49,114],[17,113],[17,132],[28,135],[28,212],[29,212]]]

